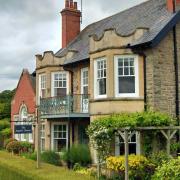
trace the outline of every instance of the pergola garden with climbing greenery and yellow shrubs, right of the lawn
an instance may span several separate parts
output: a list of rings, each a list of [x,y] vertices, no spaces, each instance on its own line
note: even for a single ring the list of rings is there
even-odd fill
[[[94,120],[88,134],[97,152],[99,177],[116,180],[180,179],[180,128],[177,125],[176,119],[159,112],[122,113]],[[131,138],[130,132],[140,134],[140,153],[126,158],[126,153],[125,156],[115,156],[112,148],[115,137],[123,139],[125,146],[126,131],[127,140]]]

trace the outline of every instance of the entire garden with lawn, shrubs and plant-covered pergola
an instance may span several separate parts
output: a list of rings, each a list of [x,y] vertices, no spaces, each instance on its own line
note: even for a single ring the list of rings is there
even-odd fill
[[[87,129],[89,145],[73,145],[60,154],[44,151],[41,153],[40,169],[36,168],[37,154],[32,144],[6,138],[4,150],[0,151],[0,176],[10,176],[10,180],[14,177],[18,180],[123,180],[127,179],[128,168],[130,180],[178,180],[179,129],[176,119],[159,112],[121,113],[99,117]],[[125,142],[136,133],[139,135],[136,140],[139,143],[139,152],[127,156],[126,150],[130,152],[131,147],[126,149]],[[122,149],[125,146],[125,151],[119,155],[115,155],[116,138],[124,140],[119,146]],[[92,165],[90,149],[97,154],[95,165]],[[46,172],[51,173],[47,175]]]

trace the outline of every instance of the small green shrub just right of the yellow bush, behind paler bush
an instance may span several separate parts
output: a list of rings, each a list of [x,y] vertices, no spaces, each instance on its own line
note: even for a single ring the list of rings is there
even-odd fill
[[[171,158],[164,151],[153,153],[149,156],[150,162],[156,167],[162,165],[163,162],[168,162],[170,159]]]

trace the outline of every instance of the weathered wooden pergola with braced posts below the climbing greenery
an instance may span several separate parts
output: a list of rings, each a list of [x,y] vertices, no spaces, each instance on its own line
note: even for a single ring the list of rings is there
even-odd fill
[[[165,126],[165,127],[126,127],[126,128],[120,128],[117,130],[118,135],[120,135],[124,140],[124,146],[125,146],[125,180],[129,180],[129,165],[128,165],[128,156],[129,156],[129,132],[137,132],[139,131],[157,131],[159,130],[162,135],[166,138],[167,141],[167,154],[170,156],[170,145],[171,145],[171,139],[174,137],[176,132],[180,130],[180,126]]]

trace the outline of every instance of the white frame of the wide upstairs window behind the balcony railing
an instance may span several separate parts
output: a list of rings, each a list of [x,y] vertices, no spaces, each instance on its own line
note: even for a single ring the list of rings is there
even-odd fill
[[[51,97],[54,97],[54,75],[66,74],[66,94],[69,94],[69,73],[67,71],[57,71],[51,73]]]

